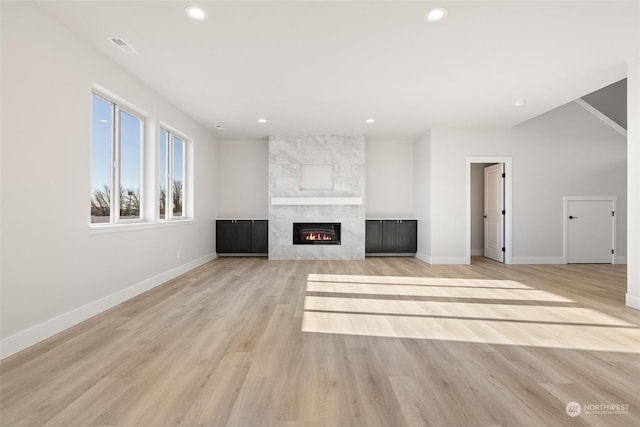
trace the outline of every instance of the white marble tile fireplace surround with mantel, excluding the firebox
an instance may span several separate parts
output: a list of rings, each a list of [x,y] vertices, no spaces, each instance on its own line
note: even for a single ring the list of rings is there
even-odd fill
[[[365,138],[269,138],[269,258],[364,259]],[[340,244],[294,245],[293,223],[340,223]]]

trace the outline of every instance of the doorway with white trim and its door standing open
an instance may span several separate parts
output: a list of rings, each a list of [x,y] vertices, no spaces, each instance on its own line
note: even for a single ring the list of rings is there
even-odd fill
[[[472,256],[511,264],[511,157],[466,160],[467,264]]]

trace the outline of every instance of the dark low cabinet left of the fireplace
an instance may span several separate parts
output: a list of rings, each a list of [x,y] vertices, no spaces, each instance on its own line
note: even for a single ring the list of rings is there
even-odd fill
[[[216,252],[220,254],[266,254],[266,220],[225,219],[216,221]]]

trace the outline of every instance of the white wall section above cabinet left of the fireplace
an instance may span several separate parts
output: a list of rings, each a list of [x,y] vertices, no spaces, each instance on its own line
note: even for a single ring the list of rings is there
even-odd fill
[[[269,216],[269,141],[220,141],[220,218]]]

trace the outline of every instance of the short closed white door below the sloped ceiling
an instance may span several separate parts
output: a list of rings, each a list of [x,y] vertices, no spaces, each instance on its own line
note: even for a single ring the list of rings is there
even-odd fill
[[[611,264],[615,199],[565,199],[567,262]]]

